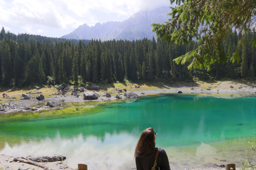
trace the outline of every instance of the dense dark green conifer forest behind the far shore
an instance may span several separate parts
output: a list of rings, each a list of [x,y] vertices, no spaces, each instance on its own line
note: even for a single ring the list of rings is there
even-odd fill
[[[9,35],[8,35],[9,34]],[[173,62],[174,58],[195,50],[199,44],[195,41],[188,45],[167,45],[161,39],[110,40],[101,42],[91,40],[87,44],[78,41],[31,42],[11,38],[11,33],[0,33],[0,80],[1,85],[25,85],[32,83],[77,84],[81,82],[151,80],[159,78],[166,81],[200,79],[254,77],[256,68],[256,49],[250,43],[256,32],[244,35],[237,32],[229,34],[223,41],[223,50],[227,54],[226,63],[205,69],[188,70],[184,65]],[[9,36],[9,37],[8,37]],[[13,35],[14,36],[14,35]],[[245,42],[241,49],[241,60],[232,63],[229,59],[236,51],[238,36]]]

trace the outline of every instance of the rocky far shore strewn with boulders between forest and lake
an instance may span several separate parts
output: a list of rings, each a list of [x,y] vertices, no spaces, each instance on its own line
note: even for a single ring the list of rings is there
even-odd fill
[[[212,86],[218,87],[220,83],[211,84]],[[44,97],[41,91],[36,91],[32,93],[28,91],[20,95],[21,99],[17,101],[10,101],[6,103],[1,103],[0,101],[0,114],[1,113],[11,113],[11,112],[26,112],[26,111],[40,111],[40,110],[49,110],[63,109],[61,104],[65,102],[91,102],[91,101],[107,101],[107,100],[120,100],[120,99],[129,99],[137,98],[142,95],[150,95],[155,93],[186,93],[186,94],[229,94],[229,95],[256,95],[256,88],[250,85],[239,85],[237,88],[234,88],[233,85],[230,85],[229,89],[222,88],[213,88],[212,86],[207,87],[206,89],[201,87],[168,87],[159,89],[143,89],[139,85],[134,85],[130,89],[136,89],[137,91],[131,91],[130,89],[120,89],[115,88],[114,86],[111,90],[104,91],[103,87],[97,85],[85,85],[85,87],[71,89],[64,85],[56,87],[58,90],[57,93],[50,94],[48,98]],[[31,90],[31,87],[29,87]],[[11,98],[8,94],[3,93],[3,97]],[[35,95],[33,97],[33,95]],[[23,97],[23,98],[22,98]],[[16,98],[16,97],[15,97]],[[32,104],[37,104],[36,107],[30,107]],[[57,107],[56,107],[57,106]],[[53,108],[52,108],[53,107]]]

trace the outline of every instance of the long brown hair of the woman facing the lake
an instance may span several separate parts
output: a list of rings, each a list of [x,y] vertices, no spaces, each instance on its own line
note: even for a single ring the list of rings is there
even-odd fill
[[[155,134],[153,128],[145,129],[140,135],[140,139],[135,149],[134,157],[142,153],[140,157],[144,157],[145,155],[151,154],[154,152],[156,143],[155,143]]]

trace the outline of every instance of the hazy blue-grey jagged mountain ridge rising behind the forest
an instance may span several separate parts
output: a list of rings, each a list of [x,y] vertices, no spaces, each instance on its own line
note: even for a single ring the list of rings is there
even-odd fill
[[[96,23],[95,26],[80,25],[77,29],[63,35],[66,39],[152,39],[156,34],[152,32],[152,23],[164,23],[170,18],[167,14],[169,7],[160,7],[154,10],[146,10],[132,15],[125,21],[108,21],[107,23]]]

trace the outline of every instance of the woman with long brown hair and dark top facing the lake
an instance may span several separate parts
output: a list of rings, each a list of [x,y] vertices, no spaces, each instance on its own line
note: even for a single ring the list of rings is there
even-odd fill
[[[155,156],[158,148],[155,147],[156,135],[153,128],[145,129],[140,135],[135,149],[135,162],[137,170],[151,170],[154,166]],[[164,149],[160,149],[157,157],[157,166],[170,170],[169,160]]]

